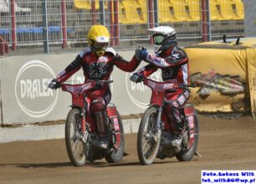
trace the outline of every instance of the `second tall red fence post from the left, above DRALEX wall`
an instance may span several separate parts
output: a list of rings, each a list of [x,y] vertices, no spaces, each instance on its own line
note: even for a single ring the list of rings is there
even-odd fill
[[[61,0],[62,48],[67,48],[66,2]]]

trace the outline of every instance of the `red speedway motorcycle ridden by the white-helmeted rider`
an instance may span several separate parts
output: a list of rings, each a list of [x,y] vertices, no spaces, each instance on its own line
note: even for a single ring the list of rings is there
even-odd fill
[[[136,82],[132,78],[131,81]],[[165,159],[176,156],[178,161],[191,161],[197,152],[199,129],[197,113],[193,105],[187,103],[181,108],[182,120],[185,125],[182,133],[182,146],[171,146],[172,122],[166,116],[164,105],[168,103],[166,92],[174,92],[177,88],[195,87],[193,85],[181,85],[172,82],[156,82],[143,78],[143,84],[152,90],[151,104],[141,118],[137,134],[137,154],[141,165],[151,164],[155,158]],[[156,134],[157,132],[157,134]]]

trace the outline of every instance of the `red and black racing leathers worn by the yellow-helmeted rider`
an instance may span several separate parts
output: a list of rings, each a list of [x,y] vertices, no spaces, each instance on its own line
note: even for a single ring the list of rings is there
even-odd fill
[[[110,79],[110,74],[114,66],[117,66],[125,72],[132,72],[137,68],[140,62],[141,61],[137,60],[136,57],[133,57],[131,61],[128,62],[112,48],[107,48],[105,54],[99,57],[90,47],[87,47],[57,76],[57,80],[64,82],[80,68],[84,71],[85,81],[90,79],[107,80]],[[98,135],[107,136],[109,132],[106,105],[110,103],[111,99],[109,86],[92,90],[86,94],[86,97],[91,102],[90,111],[95,115]]]

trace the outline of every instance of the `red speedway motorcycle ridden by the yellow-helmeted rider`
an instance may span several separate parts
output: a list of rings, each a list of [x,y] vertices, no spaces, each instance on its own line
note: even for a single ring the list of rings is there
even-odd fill
[[[71,110],[65,122],[65,143],[69,159],[74,166],[84,166],[86,161],[105,158],[109,163],[118,163],[124,156],[125,137],[120,114],[115,105],[107,107],[110,128],[110,146],[100,149],[97,146],[98,135],[96,122],[90,113],[90,101],[86,91],[110,84],[113,80],[90,81],[85,84],[60,84],[63,91],[72,95]],[[51,82],[49,88],[54,89]]]

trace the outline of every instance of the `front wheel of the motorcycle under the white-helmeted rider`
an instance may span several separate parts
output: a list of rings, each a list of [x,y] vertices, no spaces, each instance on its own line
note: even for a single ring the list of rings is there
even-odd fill
[[[161,140],[154,141],[153,135],[155,133],[156,120],[157,109],[151,106],[142,115],[137,135],[137,154],[141,165],[149,165],[156,158]]]

